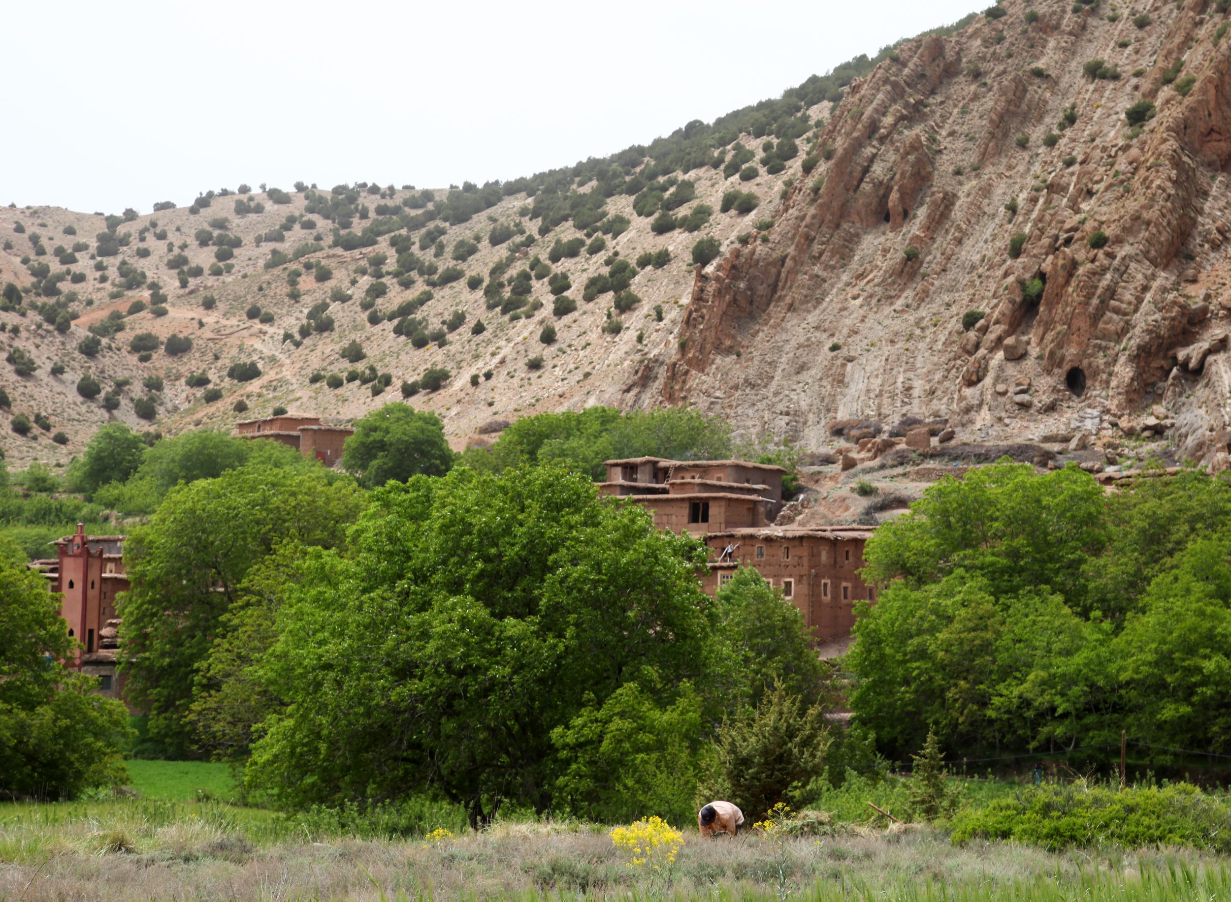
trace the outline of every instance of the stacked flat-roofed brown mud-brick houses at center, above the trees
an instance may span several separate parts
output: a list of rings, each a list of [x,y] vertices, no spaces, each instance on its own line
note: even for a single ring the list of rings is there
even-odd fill
[[[819,642],[847,639],[854,605],[876,601],[859,578],[867,527],[774,527],[785,470],[747,460],[608,460],[598,490],[688,532],[712,549],[702,587],[714,594],[740,565],[755,569],[799,608]]]

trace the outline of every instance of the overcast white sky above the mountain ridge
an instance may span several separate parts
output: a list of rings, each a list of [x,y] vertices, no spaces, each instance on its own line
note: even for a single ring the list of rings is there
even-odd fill
[[[444,187],[646,144],[987,0],[5,5],[0,203]]]

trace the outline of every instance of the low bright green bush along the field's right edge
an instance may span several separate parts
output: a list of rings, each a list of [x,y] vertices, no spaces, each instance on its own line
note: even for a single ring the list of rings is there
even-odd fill
[[[1231,801],[1197,786],[1044,785],[968,808],[953,842],[1011,839],[1056,850],[1117,843],[1129,848],[1192,845],[1231,853]]]

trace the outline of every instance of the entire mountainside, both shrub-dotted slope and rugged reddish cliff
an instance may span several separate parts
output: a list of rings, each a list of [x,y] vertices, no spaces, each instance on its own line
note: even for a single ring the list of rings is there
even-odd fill
[[[108,256],[100,215],[0,209],[22,295],[0,356],[38,365],[0,368],[0,418],[50,420],[0,423],[0,448],[63,463],[108,418],[149,422],[142,399],[153,428],[228,428],[275,406],[352,418],[419,381],[457,447],[529,412],[692,404],[809,448],[916,417],[979,442],[1112,428],[1210,461],[1231,436],[1222,5],[1004,0],[776,122],[715,123],[713,154],[673,169],[643,148],[506,186],[219,193],[112,219]],[[85,281],[48,294],[41,261]],[[162,342],[145,362],[142,332]],[[172,333],[191,349],[169,354]],[[117,409],[78,394],[86,373]]]

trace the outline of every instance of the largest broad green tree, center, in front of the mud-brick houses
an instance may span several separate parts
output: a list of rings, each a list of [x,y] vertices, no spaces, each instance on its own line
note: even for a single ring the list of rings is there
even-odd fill
[[[351,554],[308,556],[261,663],[287,708],[247,781],[278,805],[427,791],[474,826],[506,800],[547,810],[553,730],[645,668],[659,687],[704,673],[702,546],[586,476],[458,468],[369,500]],[[639,685],[660,706],[676,692]]]

